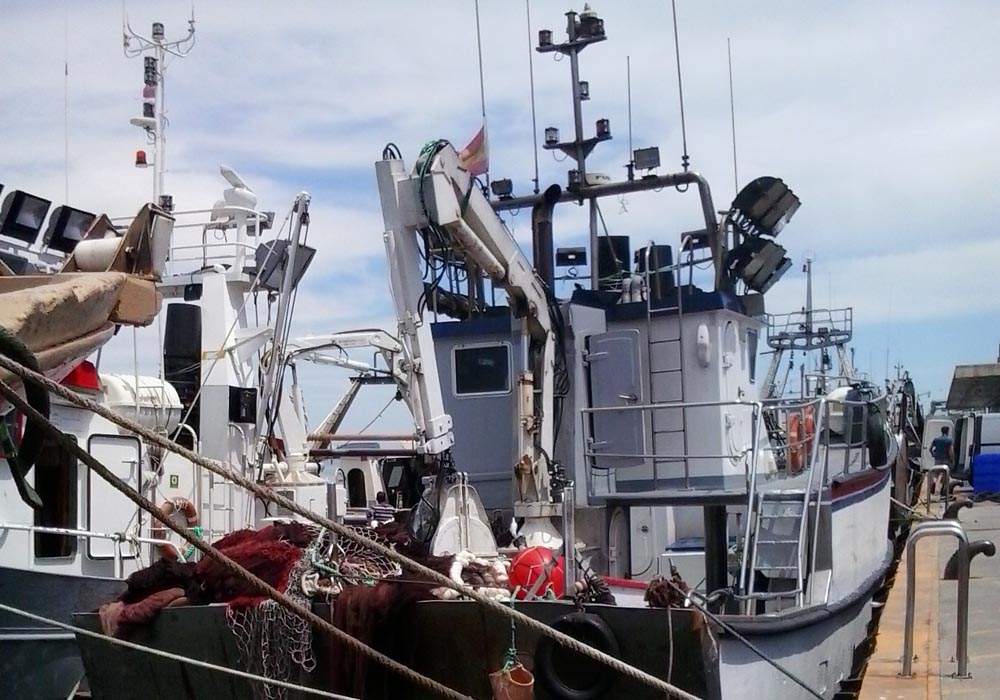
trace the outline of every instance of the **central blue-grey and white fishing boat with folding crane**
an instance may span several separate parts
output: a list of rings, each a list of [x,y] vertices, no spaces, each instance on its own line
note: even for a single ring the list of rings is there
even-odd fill
[[[718,218],[708,181],[686,156],[682,171],[657,174],[658,150],[640,149],[621,182],[587,169],[611,133],[599,120],[594,136],[583,134],[578,59],[606,34],[589,8],[567,18],[565,41],[545,30],[538,46],[567,57],[572,72],[575,136],[546,134],[546,148],[573,160],[565,188],[515,196],[509,181],[494,180],[490,197],[470,174],[468,154],[446,141],[431,142],[412,169],[392,148],[376,165],[399,320],[387,366],[414,419],[412,455],[393,465],[411,476],[386,479],[384,488],[409,509],[410,540],[428,555],[492,559],[516,556],[518,544],[561,552],[567,595],[540,599],[535,585],[515,607],[633,669],[701,698],[741,697],[748,688],[831,698],[851,677],[872,596],[893,559],[890,498],[894,489],[905,497],[893,476],[905,468],[904,419],[915,410],[897,394],[915,400],[912,383],[890,395],[856,374],[849,309],[815,309],[810,300],[800,312],[766,311],[767,292],[792,266],[777,236],[799,208],[779,178],[751,181]],[[628,237],[601,236],[600,199],[639,192],[697,197],[700,228],[634,255]],[[562,203],[588,206],[588,246],[554,250]],[[532,212],[531,259],[500,218],[514,211]],[[590,288],[560,298],[557,266],[580,281],[569,268],[585,260]],[[212,278],[202,280],[206,291]],[[766,372],[758,371],[762,341],[773,353]],[[203,336],[203,351],[220,346]],[[787,377],[778,380],[782,359],[803,352],[819,361],[800,366],[790,394]],[[259,417],[257,425],[261,439],[271,437]],[[310,442],[300,435],[294,444],[303,437]],[[296,502],[322,503],[305,483],[309,469],[293,469],[320,456],[323,448],[312,448],[283,462],[298,475],[287,480],[298,485]],[[490,511],[499,511],[492,528]],[[495,539],[507,515],[511,546]],[[308,551],[304,566],[318,567],[315,548]],[[547,571],[534,582],[549,588],[553,578]],[[371,590],[390,579],[373,578]],[[587,593],[600,580],[617,604]],[[313,603],[328,613],[332,605],[336,616],[340,599],[321,598]],[[227,610],[163,609],[136,638],[154,650],[195,645],[220,667],[259,668],[237,644]],[[75,620],[102,629],[96,614]],[[379,649],[471,697],[490,695],[490,674],[511,654],[534,674],[541,698],[660,693],[538,629],[518,624],[512,633],[508,620],[460,596],[428,594],[368,625],[360,632]],[[333,671],[344,661],[317,640],[308,657],[315,664],[304,663],[305,633],[289,634],[284,628],[272,642],[296,660],[283,679],[342,691],[343,675]],[[79,643],[95,697],[254,691],[246,680],[193,682],[195,671],[176,659],[89,636]],[[157,672],[139,670],[147,668]],[[348,685],[360,696],[428,695],[375,665],[352,668]]]

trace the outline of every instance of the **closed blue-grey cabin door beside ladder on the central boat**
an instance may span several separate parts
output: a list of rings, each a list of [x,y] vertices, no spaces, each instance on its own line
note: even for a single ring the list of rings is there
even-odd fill
[[[594,466],[614,469],[644,464],[643,412],[630,409],[643,403],[639,331],[590,336],[586,359],[591,408],[626,409],[589,414],[591,448],[597,454]]]

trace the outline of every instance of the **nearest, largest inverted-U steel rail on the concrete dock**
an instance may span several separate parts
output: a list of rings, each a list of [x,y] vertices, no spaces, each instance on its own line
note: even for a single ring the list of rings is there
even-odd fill
[[[969,538],[962,524],[954,520],[929,520],[918,523],[906,540],[906,618],[903,627],[903,671],[905,678],[913,676],[913,617],[914,597],[917,588],[917,568],[914,559],[917,541],[928,536],[954,535],[958,538],[958,639],[955,658],[958,660],[958,678],[969,677]],[[936,575],[936,573],[935,573]]]

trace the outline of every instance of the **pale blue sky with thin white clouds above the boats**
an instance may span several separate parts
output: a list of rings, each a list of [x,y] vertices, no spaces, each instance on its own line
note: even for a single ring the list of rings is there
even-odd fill
[[[670,3],[593,5],[610,40],[581,56],[592,95],[584,129],[605,117],[614,139],[589,168],[621,177],[631,141],[660,148],[660,173],[679,170]],[[136,31],[161,21],[168,38],[186,32],[191,12],[181,1],[124,7]],[[559,40],[569,9],[582,6],[530,0],[532,32],[549,28]],[[295,331],[394,330],[373,163],[389,141],[410,164],[426,141],[460,147],[479,129],[474,3],[242,0],[194,10],[196,45],[167,68],[166,189],[176,206],[211,206],[225,186],[221,163],[279,218],[308,191],[318,253]],[[141,113],[142,64],[122,54],[122,12],[110,0],[0,0],[0,183],[113,215],[150,198],[151,170],[133,167],[144,146],[128,123]],[[534,149],[525,5],[481,0],[479,12],[491,175],[526,194]],[[1000,5],[679,0],[677,18],[688,153],[716,208],[735,195],[727,38],[740,185],[774,175],[802,200],[779,240],[797,264],[768,293],[768,310],[802,305],[798,263],[808,255],[816,304],[854,308],[856,363],[872,377],[901,364],[926,401],[945,397],[956,364],[993,361]],[[533,61],[538,131],[557,126],[565,137],[568,64],[551,54]],[[543,187],[565,184],[567,164],[551,153],[540,153],[539,168]],[[629,195],[603,213],[633,248],[649,239],[676,246],[699,226],[693,191]],[[527,212],[508,223],[528,240]],[[555,237],[557,246],[583,244],[583,211],[558,211]],[[142,371],[155,374],[155,329],[137,342]],[[106,350],[104,368],[131,371],[128,334]],[[346,375],[303,371],[315,423]],[[360,400],[345,428],[363,426],[388,397]],[[392,406],[383,420],[402,415]]]

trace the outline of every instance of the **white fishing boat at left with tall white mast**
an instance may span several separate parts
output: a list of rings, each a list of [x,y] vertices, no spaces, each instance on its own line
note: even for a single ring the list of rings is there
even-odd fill
[[[331,511],[339,507],[348,520],[364,520],[368,503],[349,507],[346,477],[336,486],[336,479],[318,477],[319,464],[307,459],[301,404],[293,406],[287,394],[279,400],[272,388],[288,367],[289,341],[289,353],[346,367],[358,382],[374,381],[371,375],[378,373],[329,352],[329,338],[289,334],[294,294],[315,252],[301,239],[308,231],[309,195],[295,198],[281,224],[273,212],[257,207],[250,186],[226,166],[220,169],[226,187],[221,197],[209,200],[211,206],[178,210],[165,193],[159,66],[168,51],[184,50],[192,37],[193,20],[180,42],[168,41],[160,23],[148,39],[132,36],[147,59],[144,112],[132,122],[150,137],[156,160],[147,162],[140,151],[137,164],[154,166],[155,204],[134,217],[109,218],[69,205],[50,213],[51,202],[42,196],[6,193],[0,211],[0,325],[9,333],[5,337],[31,354],[37,370],[100,407],[200,455],[283,483],[284,493],[329,504]],[[254,308],[267,310],[268,320],[258,321]],[[145,358],[138,357],[134,344],[135,371],[101,367],[100,349],[122,327],[154,324],[158,376],[140,374]],[[337,347],[368,347],[380,338],[366,333],[333,340]],[[382,344],[391,349],[390,342]],[[265,366],[265,356],[278,361]],[[14,357],[26,361],[22,354]],[[20,377],[6,370],[0,378],[21,385]],[[27,386],[29,396],[45,400],[44,391]],[[135,431],[63,398],[49,402],[57,427],[164,513],[206,537],[217,539],[273,517],[246,492],[164,453]],[[15,442],[24,429],[22,450],[40,440],[30,422],[25,427],[6,403],[0,408]],[[265,433],[278,437],[280,450],[274,441],[258,439]],[[3,452],[10,454],[6,446]],[[183,562],[191,555],[182,540],[171,539],[65,449],[42,441],[37,452],[34,469],[31,462],[0,460],[0,602],[65,623],[72,613],[117,596],[124,580],[150,563]],[[348,471],[352,483],[354,474],[361,475],[360,485],[367,482],[374,500],[377,465],[358,460]],[[0,696],[66,698],[81,688],[86,682],[72,634],[0,613]]]

